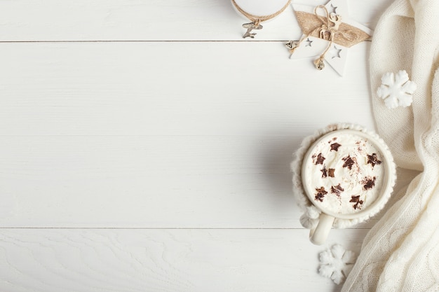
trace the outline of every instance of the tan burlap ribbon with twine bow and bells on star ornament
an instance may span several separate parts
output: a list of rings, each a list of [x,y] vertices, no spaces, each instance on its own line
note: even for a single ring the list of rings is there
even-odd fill
[[[318,15],[318,9],[323,9],[325,16]],[[323,62],[323,60],[325,54],[332,46],[332,43],[350,48],[370,38],[369,34],[363,32],[363,30],[358,27],[353,27],[352,25],[342,22],[341,15],[329,13],[323,5],[316,6],[314,13],[295,11],[295,14],[304,36],[300,41],[290,41],[286,46],[292,54],[296,48],[300,46],[302,41],[309,38],[309,36],[329,41],[325,51],[314,61],[316,68],[319,70],[325,68],[325,62]]]

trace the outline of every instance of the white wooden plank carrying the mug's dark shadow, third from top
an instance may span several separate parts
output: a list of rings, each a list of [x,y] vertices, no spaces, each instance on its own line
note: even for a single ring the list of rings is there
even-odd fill
[[[289,169],[299,139],[6,137],[0,225],[300,228]]]

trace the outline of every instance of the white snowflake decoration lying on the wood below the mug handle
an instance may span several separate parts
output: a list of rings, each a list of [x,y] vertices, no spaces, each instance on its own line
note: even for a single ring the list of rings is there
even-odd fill
[[[332,279],[335,284],[342,284],[351,272],[356,256],[353,251],[346,251],[343,246],[335,244],[331,249],[320,253],[321,276]]]

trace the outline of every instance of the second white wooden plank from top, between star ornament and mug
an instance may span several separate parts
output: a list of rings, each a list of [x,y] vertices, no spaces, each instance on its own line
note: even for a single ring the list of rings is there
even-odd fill
[[[307,134],[373,128],[367,50],[346,76],[281,43],[4,43],[0,135]]]

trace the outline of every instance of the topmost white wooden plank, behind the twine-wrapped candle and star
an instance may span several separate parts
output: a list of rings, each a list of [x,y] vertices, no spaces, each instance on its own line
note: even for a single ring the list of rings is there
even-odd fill
[[[309,5],[322,0],[302,0]],[[391,0],[350,0],[349,11],[372,27]],[[0,41],[249,41],[229,0],[1,1]],[[292,8],[266,22],[259,41],[285,41],[301,32]],[[251,41],[255,41],[251,40]]]

